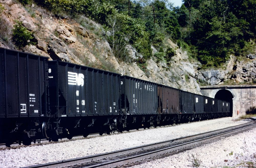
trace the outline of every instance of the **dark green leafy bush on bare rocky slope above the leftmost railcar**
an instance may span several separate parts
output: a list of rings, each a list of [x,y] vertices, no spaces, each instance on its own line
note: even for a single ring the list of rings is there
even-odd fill
[[[31,41],[32,39],[34,39],[33,33],[30,32],[27,28],[25,28],[22,25],[21,21],[16,20],[15,22],[16,24],[14,25],[13,38],[12,38],[15,45],[21,48],[29,44],[35,44],[34,42]]]

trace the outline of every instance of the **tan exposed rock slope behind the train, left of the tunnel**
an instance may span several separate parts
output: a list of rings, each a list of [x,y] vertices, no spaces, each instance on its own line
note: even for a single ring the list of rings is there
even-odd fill
[[[16,1],[1,1],[5,6],[3,15],[14,25],[14,20],[20,20],[23,25],[33,32],[36,45],[25,47],[25,52],[49,57],[71,63],[93,66],[97,68],[110,67],[113,71],[122,75],[129,75],[135,78],[149,80],[185,91],[200,94],[199,85],[195,75],[198,62],[188,60],[186,52],[178,49],[178,46],[171,40],[167,45],[175,50],[176,55],[168,65],[166,62],[156,63],[154,57],[147,60],[147,67],[142,71],[136,64],[136,60],[142,55],[131,45],[126,46],[129,53],[128,63],[114,57],[109,43],[104,38],[99,38],[89,29],[93,25],[94,30],[102,32],[104,30],[99,24],[82,16],[81,19],[90,24],[82,26],[71,19],[57,19],[49,11],[37,5],[27,6],[30,13]],[[31,12],[33,15],[31,15]],[[103,34],[107,34],[104,32]],[[0,44],[4,46],[3,44]],[[157,50],[152,46],[153,55]]]

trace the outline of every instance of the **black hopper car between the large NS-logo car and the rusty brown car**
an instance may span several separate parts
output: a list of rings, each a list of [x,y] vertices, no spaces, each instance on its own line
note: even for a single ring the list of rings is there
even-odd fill
[[[157,83],[120,76],[120,92],[122,115],[129,127],[149,128],[157,121]]]

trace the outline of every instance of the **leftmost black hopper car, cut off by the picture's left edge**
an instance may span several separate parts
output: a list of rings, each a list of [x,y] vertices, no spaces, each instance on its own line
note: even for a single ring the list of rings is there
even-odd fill
[[[47,111],[47,60],[47,57],[0,48],[1,141],[23,134],[24,138],[26,134],[35,137],[40,118]]]

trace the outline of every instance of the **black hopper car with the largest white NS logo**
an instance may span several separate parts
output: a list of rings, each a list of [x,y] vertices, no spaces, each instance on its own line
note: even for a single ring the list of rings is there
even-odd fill
[[[65,129],[70,134],[78,125],[85,129],[96,120],[107,122],[108,117],[96,116],[119,114],[119,74],[62,61],[49,61],[48,66],[49,107],[59,123],[58,135]]]

